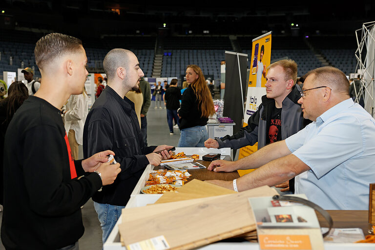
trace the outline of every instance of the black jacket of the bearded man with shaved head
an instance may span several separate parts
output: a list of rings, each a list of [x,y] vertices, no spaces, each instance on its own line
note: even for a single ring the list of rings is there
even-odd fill
[[[110,86],[96,99],[83,127],[83,155],[110,149],[121,165],[115,182],[96,192],[92,200],[125,206],[147,164],[146,154],[156,146],[144,146],[134,104],[121,98]]]

